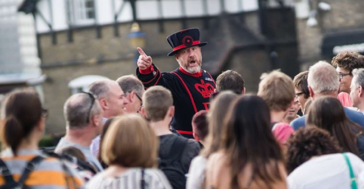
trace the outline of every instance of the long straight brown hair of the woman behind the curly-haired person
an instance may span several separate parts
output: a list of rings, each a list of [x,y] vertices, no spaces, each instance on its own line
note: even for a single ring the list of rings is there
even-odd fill
[[[341,102],[334,97],[315,99],[310,105],[306,125],[315,125],[327,130],[339,141],[344,152],[364,158],[363,129],[348,119]]]

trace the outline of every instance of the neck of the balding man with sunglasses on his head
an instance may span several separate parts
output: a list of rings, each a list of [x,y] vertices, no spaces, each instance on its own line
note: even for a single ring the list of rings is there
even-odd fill
[[[86,126],[82,129],[67,129],[66,136],[64,139],[70,142],[74,142],[81,146],[90,146],[91,141],[97,136],[93,132],[88,132],[87,130],[90,129],[90,126]]]

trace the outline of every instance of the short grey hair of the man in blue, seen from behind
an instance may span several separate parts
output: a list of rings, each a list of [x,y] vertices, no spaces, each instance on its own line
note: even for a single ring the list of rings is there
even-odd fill
[[[308,70],[308,86],[314,93],[328,93],[339,91],[339,74],[326,61],[318,61]]]

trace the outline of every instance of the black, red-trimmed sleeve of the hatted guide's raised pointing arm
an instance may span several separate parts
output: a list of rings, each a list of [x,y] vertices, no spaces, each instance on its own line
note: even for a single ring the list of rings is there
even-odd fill
[[[167,89],[171,89],[174,80],[172,73],[161,73],[154,64],[145,70],[140,70],[137,68],[137,77],[142,81],[145,88],[149,88],[154,85],[162,85]]]

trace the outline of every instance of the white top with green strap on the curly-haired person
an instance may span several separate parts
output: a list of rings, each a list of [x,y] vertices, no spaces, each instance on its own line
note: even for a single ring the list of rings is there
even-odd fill
[[[347,153],[358,188],[364,188],[361,175],[364,172],[364,162],[352,153]],[[351,189],[350,173],[343,154],[335,153],[312,158],[287,177],[289,189]]]

